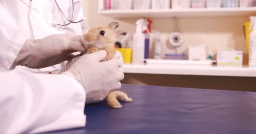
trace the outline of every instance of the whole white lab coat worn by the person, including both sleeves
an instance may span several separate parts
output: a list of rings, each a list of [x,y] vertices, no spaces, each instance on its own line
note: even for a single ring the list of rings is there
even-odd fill
[[[74,20],[83,17],[75,1]],[[57,0],[72,15],[72,0]],[[54,0],[0,0],[0,134],[37,133],[85,126],[85,91],[68,76],[32,74],[27,67],[9,70],[27,39],[51,34],[82,34],[80,23],[51,26],[65,19]],[[40,69],[47,71],[61,65]],[[22,70],[19,70],[22,69]]]

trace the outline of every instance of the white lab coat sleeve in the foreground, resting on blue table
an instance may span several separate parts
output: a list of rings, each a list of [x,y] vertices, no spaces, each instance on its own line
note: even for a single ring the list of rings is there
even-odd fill
[[[85,91],[66,75],[0,72],[0,134],[85,126]]]

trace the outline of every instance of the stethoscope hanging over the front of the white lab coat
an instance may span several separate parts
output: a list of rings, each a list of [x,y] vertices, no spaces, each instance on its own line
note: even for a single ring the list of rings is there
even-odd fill
[[[57,25],[59,25],[59,26],[67,26],[67,25],[69,25],[69,24],[71,24],[71,23],[79,23],[79,22],[81,22],[81,21],[85,21],[86,20],[86,17],[83,17],[81,20],[79,20],[79,21],[74,21],[73,19],[74,19],[74,12],[75,12],[75,9],[74,9],[74,0],[72,0],[72,19],[70,20],[64,13],[63,13],[63,11],[61,10],[61,8],[59,7],[59,4],[57,3],[57,1],[56,0],[54,0],[55,1],[55,3],[56,3],[56,5],[57,5],[57,7],[59,8],[59,10],[61,11],[61,14],[67,19],[67,21],[69,21],[69,23],[56,23],[56,22],[52,22],[52,26],[57,26]]]

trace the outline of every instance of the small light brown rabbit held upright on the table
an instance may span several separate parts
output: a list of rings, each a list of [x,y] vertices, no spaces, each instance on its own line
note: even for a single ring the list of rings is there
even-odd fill
[[[107,28],[104,27],[93,27],[88,33],[83,35],[82,41],[87,44],[88,49],[86,52],[81,54],[91,54],[99,50],[105,50],[107,56],[105,60],[112,59],[115,55],[115,41],[122,35],[126,35],[125,31],[115,31],[119,26],[119,23],[109,23]],[[111,108],[121,108],[122,105],[118,101],[131,102],[132,98],[129,98],[126,93],[122,91],[110,92],[107,96],[108,106]]]

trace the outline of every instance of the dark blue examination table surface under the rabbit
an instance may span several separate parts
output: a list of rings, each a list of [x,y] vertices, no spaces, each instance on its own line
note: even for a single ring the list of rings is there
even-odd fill
[[[256,134],[256,93],[123,84],[123,108],[86,105],[86,126],[47,134]]]

